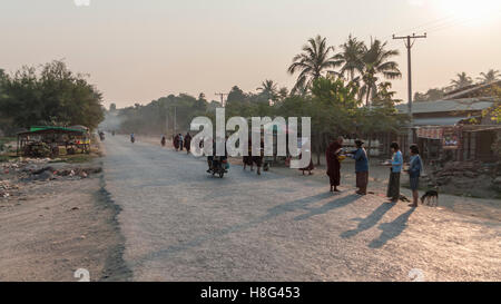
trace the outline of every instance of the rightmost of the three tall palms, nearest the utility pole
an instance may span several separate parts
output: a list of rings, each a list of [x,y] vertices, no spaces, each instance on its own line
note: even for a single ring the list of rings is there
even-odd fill
[[[362,59],[364,62],[364,70],[362,80],[364,86],[361,89],[360,97],[365,96],[365,105],[369,107],[371,96],[377,92],[377,75],[383,75],[386,79],[396,79],[402,77],[399,69],[399,63],[391,61],[390,58],[399,56],[399,50],[386,50],[387,42],[380,40],[371,40],[371,47],[365,51]]]

